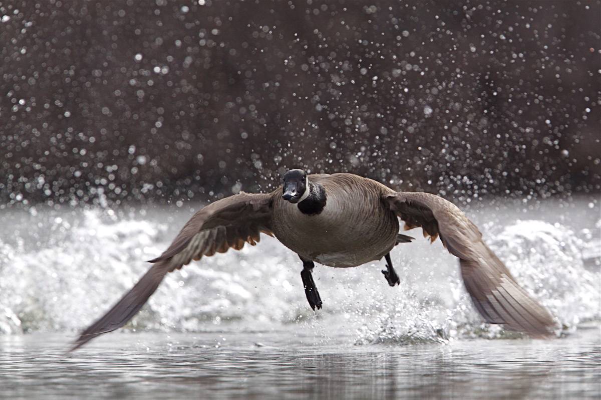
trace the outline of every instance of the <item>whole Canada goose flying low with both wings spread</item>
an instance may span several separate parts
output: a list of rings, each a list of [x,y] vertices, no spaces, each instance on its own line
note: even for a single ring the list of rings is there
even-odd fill
[[[311,271],[314,262],[334,267],[358,266],[386,259],[382,271],[390,286],[400,280],[390,251],[410,236],[404,229],[421,227],[459,257],[465,288],[474,306],[490,324],[549,336],[554,321],[545,307],[526,293],[463,212],[438,195],[395,192],[375,180],[354,174],[314,174],[290,170],[283,185],[266,194],[240,192],[207,205],[185,224],[169,248],[151,260],[154,265],[102,318],[73,343],[79,348],[100,334],[122,327],[146,303],[167,272],[193,259],[255,245],[260,233],[275,236],[299,255],[301,278],[312,309],[322,300]]]

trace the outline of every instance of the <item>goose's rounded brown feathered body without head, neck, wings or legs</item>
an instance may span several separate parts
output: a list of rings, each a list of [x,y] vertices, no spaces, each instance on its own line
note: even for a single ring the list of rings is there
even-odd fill
[[[297,205],[273,192],[273,234],[307,260],[347,267],[379,260],[396,244],[398,218],[382,200],[394,193],[375,180],[353,174],[314,174],[326,205],[317,215],[303,214]]]

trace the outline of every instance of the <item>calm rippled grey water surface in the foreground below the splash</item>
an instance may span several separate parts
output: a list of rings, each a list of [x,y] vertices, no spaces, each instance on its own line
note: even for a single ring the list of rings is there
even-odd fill
[[[353,345],[298,328],[0,337],[4,398],[599,398],[597,328],[556,340]],[[218,344],[219,343],[219,344]]]

